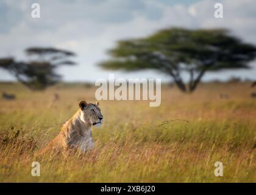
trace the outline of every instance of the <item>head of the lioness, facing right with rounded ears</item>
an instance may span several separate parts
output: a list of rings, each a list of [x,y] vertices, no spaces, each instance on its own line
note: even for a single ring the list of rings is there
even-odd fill
[[[87,104],[86,101],[81,101],[79,103],[79,107],[82,111],[80,119],[83,122],[88,122],[96,127],[101,126],[103,122],[103,116],[101,113],[101,109],[99,108],[99,102],[96,102],[96,104]]]

